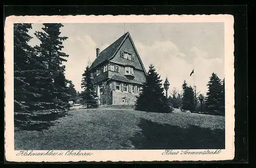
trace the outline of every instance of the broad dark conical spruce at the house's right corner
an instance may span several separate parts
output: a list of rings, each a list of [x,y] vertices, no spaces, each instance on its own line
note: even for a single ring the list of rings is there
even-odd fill
[[[162,80],[160,80],[160,76],[152,64],[149,68],[146,82],[142,86],[139,97],[137,97],[135,109],[159,113],[170,112],[168,100],[163,94]]]

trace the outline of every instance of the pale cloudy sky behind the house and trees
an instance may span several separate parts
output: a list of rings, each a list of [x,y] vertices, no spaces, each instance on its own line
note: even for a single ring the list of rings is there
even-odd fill
[[[60,36],[62,52],[69,55],[66,78],[76,90],[81,91],[82,74],[89,62],[100,51],[129,31],[141,60],[148,70],[153,64],[164,83],[170,83],[168,94],[174,88],[182,91],[185,80],[197,86],[197,92],[207,92],[207,83],[212,73],[224,78],[224,23],[62,23]],[[35,31],[42,31],[41,23],[33,23],[29,34],[34,37],[30,45],[38,45]],[[194,76],[189,76],[194,69]]]

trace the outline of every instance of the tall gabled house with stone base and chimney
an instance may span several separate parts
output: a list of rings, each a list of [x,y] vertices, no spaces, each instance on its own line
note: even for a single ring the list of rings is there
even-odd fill
[[[100,105],[134,105],[146,71],[129,32],[105,50],[96,49],[90,66]]]

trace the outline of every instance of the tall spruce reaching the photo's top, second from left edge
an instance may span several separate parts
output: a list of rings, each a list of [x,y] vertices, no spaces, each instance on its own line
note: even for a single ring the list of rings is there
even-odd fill
[[[42,86],[41,102],[45,102],[49,109],[66,109],[69,108],[67,99],[67,80],[65,78],[65,66],[63,62],[69,57],[62,53],[62,41],[68,37],[60,37],[60,28],[63,27],[61,23],[44,23],[44,32],[36,32],[36,37],[41,41],[39,46],[35,49],[45,65],[47,71],[43,83],[47,85]],[[48,78],[47,78],[48,77]]]

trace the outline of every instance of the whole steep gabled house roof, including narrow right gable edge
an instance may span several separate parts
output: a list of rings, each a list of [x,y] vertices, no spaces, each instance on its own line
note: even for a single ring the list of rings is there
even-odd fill
[[[134,46],[135,52],[139,58],[139,61],[143,67],[144,73],[146,73],[146,69],[141,61],[141,58],[139,56],[138,51],[136,50],[136,47],[134,45],[134,42],[132,40],[132,37],[130,35],[129,32],[125,33],[124,35],[122,35],[120,38],[118,38],[115,42],[113,42],[110,46],[106,47],[105,50],[103,50],[102,52],[99,53],[99,56],[95,59],[95,61],[92,63],[90,69],[96,67],[97,65],[99,65],[100,63],[106,61],[106,60],[111,60],[113,57],[115,57],[116,52],[119,50],[119,48],[121,47],[121,45],[123,44],[124,40],[129,37],[131,39],[132,45]]]

